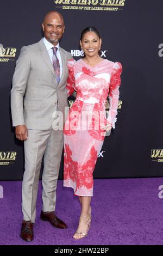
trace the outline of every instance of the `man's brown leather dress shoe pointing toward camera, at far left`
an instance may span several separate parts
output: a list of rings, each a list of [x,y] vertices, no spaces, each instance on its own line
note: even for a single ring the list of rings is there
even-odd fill
[[[27,241],[30,242],[33,240],[33,225],[34,223],[30,221],[24,221],[22,222],[22,229],[21,229],[21,234],[20,237]]]

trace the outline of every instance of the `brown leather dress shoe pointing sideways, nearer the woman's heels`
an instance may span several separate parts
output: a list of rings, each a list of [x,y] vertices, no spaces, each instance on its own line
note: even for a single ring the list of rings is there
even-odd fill
[[[42,221],[50,222],[55,228],[67,228],[67,225],[61,221],[53,211],[41,211],[40,218]]]

